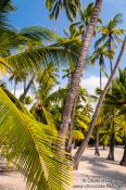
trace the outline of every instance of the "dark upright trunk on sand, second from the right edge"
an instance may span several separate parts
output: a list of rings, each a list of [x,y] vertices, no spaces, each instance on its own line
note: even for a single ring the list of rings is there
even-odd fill
[[[114,145],[115,145],[115,125],[113,123],[113,129],[112,129],[112,137],[110,141],[110,151],[109,151],[109,156],[108,160],[114,161]]]

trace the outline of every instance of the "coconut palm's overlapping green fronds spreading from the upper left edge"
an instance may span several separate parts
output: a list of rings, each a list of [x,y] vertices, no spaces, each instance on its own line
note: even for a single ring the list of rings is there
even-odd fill
[[[73,46],[73,49],[76,50],[76,42],[74,42],[75,40],[72,42],[72,40],[64,41],[59,38],[56,45],[48,46],[49,41],[52,42],[52,39],[55,39],[55,35],[47,28],[34,26],[17,30],[13,27],[10,27],[7,24],[8,22],[4,21],[8,21],[7,12],[9,13],[11,9],[11,0],[1,1],[0,3],[0,71],[7,72],[9,71],[9,68],[12,69],[12,67],[14,67],[18,71],[25,69],[26,72],[33,72],[34,69],[40,69],[41,65],[45,65],[50,61],[58,64],[66,56],[71,56],[68,46]],[[63,45],[64,48],[61,45]],[[15,54],[10,54],[10,50],[14,49],[15,52],[15,49],[17,49],[18,46],[25,47],[23,48],[23,51]],[[75,53],[75,51],[73,52],[73,58],[76,58],[77,54]]]

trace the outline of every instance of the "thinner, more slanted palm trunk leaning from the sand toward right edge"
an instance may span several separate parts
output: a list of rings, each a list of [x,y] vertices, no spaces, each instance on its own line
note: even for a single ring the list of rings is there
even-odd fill
[[[110,88],[110,85],[111,85],[112,80],[113,80],[113,77],[114,77],[114,75],[115,75],[115,72],[116,72],[116,69],[117,69],[117,67],[118,67],[118,65],[119,65],[122,55],[123,55],[123,53],[124,53],[124,51],[125,51],[125,46],[126,46],[126,37],[125,37],[125,39],[124,39],[124,42],[123,42],[123,46],[122,46],[122,50],[121,50],[121,52],[119,52],[119,55],[118,55],[117,61],[116,61],[116,63],[115,63],[115,66],[114,66],[113,71],[112,71],[112,73],[111,73],[111,76],[110,76],[110,78],[109,78],[109,80],[108,80],[108,83],[106,83],[106,85],[105,85],[105,87],[104,87],[103,92],[102,92],[101,96],[100,96],[99,102],[98,102],[98,104],[97,104],[96,111],[94,111],[93,116],[92,116],[92,121],[91,121],[89,130],[88,130],[88,132],[87,132],[87,135],[86,135],[86,138],[85,138],[85,140],[81,142],[80,147],[78,148],[78,150],[77,150],[77,152],[76,152],[76,154],[75,154],[75,157],[74,157],[74,168],[75,168],[75,169],[78,168],[79,161],[80,161],[80,159],[81,159],[81,156],[83,156],[83,153],[84,153],[85,149],[86,149],[87,145],[88,145],[90,136],[92,135],[92,131],[93,131],[93,128],[94,128],[94,125],[96,125],[96,122],[97,122],[97,117],[98,117],[100,107],[101,107],[101,105],[102,105],[102,103],[103,103],[103,100],[104,100],[104,98],[105,98],[105,94],[106,94],[106,92],[108,92],[108,90],[109,90],[109,88]]]

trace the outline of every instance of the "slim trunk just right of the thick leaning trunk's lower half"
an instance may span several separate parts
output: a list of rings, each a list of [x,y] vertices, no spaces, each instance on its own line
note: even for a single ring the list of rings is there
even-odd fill
[[[74,100],[74,106],[73,106],[73,110],[72,110],[72,118],[71,118],[70,132],[68,132],[68,141],[67,141],[67,147],[66,147],[66,151],[70,152],[70,153],[72,152],[72,138],[73,138],[73,128],[74,128],[74,119],[75,119],[77,100],[78,100],[78,92],[77,92],[77,96]]]

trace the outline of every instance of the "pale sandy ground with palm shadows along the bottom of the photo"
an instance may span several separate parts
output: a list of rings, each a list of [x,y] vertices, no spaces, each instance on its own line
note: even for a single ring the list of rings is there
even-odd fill
[[[86,150],[79,169],[75,172],[74,190],[126,190],[126,167],[118,163],[123,149],[115,149],[115,162],[110,162],[108,150],[101,149],[101,157],[93,155],[93,148]],[[15,174],[0,174],[0,190],[26,190]]]

